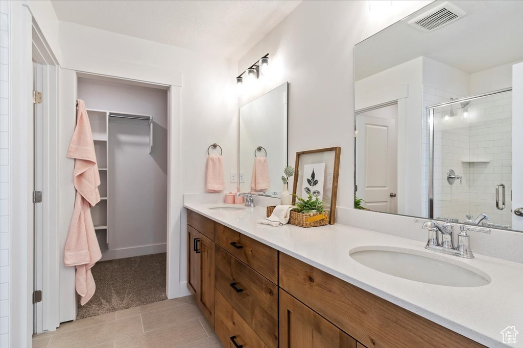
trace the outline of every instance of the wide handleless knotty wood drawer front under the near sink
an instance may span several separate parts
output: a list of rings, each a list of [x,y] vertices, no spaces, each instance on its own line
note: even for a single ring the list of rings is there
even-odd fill
[[[283,253],[280,286],[368,347],[483,347]]]

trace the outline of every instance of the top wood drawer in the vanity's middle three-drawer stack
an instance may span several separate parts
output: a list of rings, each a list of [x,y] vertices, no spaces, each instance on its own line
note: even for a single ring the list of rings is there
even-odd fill
[[[215,230],[216,244],[278,284],[278,250],[219,223]]]

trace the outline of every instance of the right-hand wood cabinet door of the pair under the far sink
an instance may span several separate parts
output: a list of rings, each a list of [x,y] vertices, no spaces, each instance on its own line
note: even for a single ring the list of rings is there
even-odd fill
[[[214,328],[214,242],[200,233],[196,246],[200,259],[198,306]]]

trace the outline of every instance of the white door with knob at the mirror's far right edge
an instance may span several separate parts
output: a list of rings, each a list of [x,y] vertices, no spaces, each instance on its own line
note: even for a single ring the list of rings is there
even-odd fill
[[[523,63],[512,68],[512,229],[523,231]],[[519,212],[519,213],[518,213]]]

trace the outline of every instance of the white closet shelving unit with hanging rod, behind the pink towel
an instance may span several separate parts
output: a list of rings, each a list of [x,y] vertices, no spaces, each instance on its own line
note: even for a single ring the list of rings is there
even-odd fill
[[[91,209],[93,224],[98,234],[105,233],[105,240],[109,246],[109,117],[124,117],[149,121],[149,153],[153,145],[152,121],[150,115],[130,114],[108,110],[86,109],[93,133],[96,160],[100,174],[100,202]],[[101,238],[98,240],[100,241]],[[102,239],[103,240],[103,239]]]

